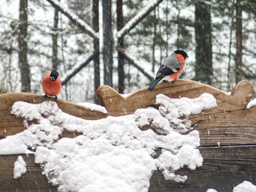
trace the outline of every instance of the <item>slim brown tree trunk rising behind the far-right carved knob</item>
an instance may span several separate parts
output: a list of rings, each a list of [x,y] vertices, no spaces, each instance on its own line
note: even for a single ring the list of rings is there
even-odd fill
[[[241,0],[236,1],[236,83],[242,79],[242,7]]]

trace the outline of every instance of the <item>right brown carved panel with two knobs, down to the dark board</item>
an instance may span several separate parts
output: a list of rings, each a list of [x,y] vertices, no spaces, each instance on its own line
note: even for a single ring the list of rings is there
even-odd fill
[[[154,106],[159,93],[171,98],[195,98],[210,93],[216,98],[217,107],[188,117],[200,132],[200,146],[256,144],[256,108],[246,109],[253,93],[253,85],[248,81],[238,83],[231,94],[188,80],[159,83],[152,91],[143,88],[126,98],[109,86],[101,86],[97,93],[111,116],[128,115],[136,109]]]

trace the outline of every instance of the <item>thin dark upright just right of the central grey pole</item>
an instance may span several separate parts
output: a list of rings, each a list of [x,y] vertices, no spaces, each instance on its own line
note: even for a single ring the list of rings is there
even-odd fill
[[[123,0],[116,1],[116,12],[117,12],[117,30],[120,31],[124,27],[124,16],[123,16]],[[124,37],[118,39],[118,46],[124,49]],[[124,56],[118,52],[118,92],[124,93]]]

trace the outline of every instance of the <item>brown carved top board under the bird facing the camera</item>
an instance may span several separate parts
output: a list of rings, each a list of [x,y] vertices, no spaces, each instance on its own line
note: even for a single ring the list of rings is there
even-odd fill
[[[54,100],[47,98],[48,100]],[[10,113],[14,102],[24,101],[33,104],[44,102],[44,96],[31,93],[6,93],[0,95],[0,139],[24,131],[24,126],[21,118],[16,118]],[[91,111],[66,100],[57,99],[58,107],[65,113],[84,118],[88,120],[96,120],[106,118],[108,114],[99,111]],[[77,133],[75,133],[77,135]],[[72,132],[63,132],[63,136],[73,137]]]

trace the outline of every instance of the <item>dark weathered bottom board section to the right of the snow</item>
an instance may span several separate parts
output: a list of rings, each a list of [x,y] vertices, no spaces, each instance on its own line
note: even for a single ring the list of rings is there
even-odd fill
[[[256,146],[201,148],[200,154],[204,157],[203,166],[177,172],[188,175],[184,184],[165,180],[157,171],[150,179],[148,192],[206,192],[210,188],[231,192],[244,180],[256,185]]]

